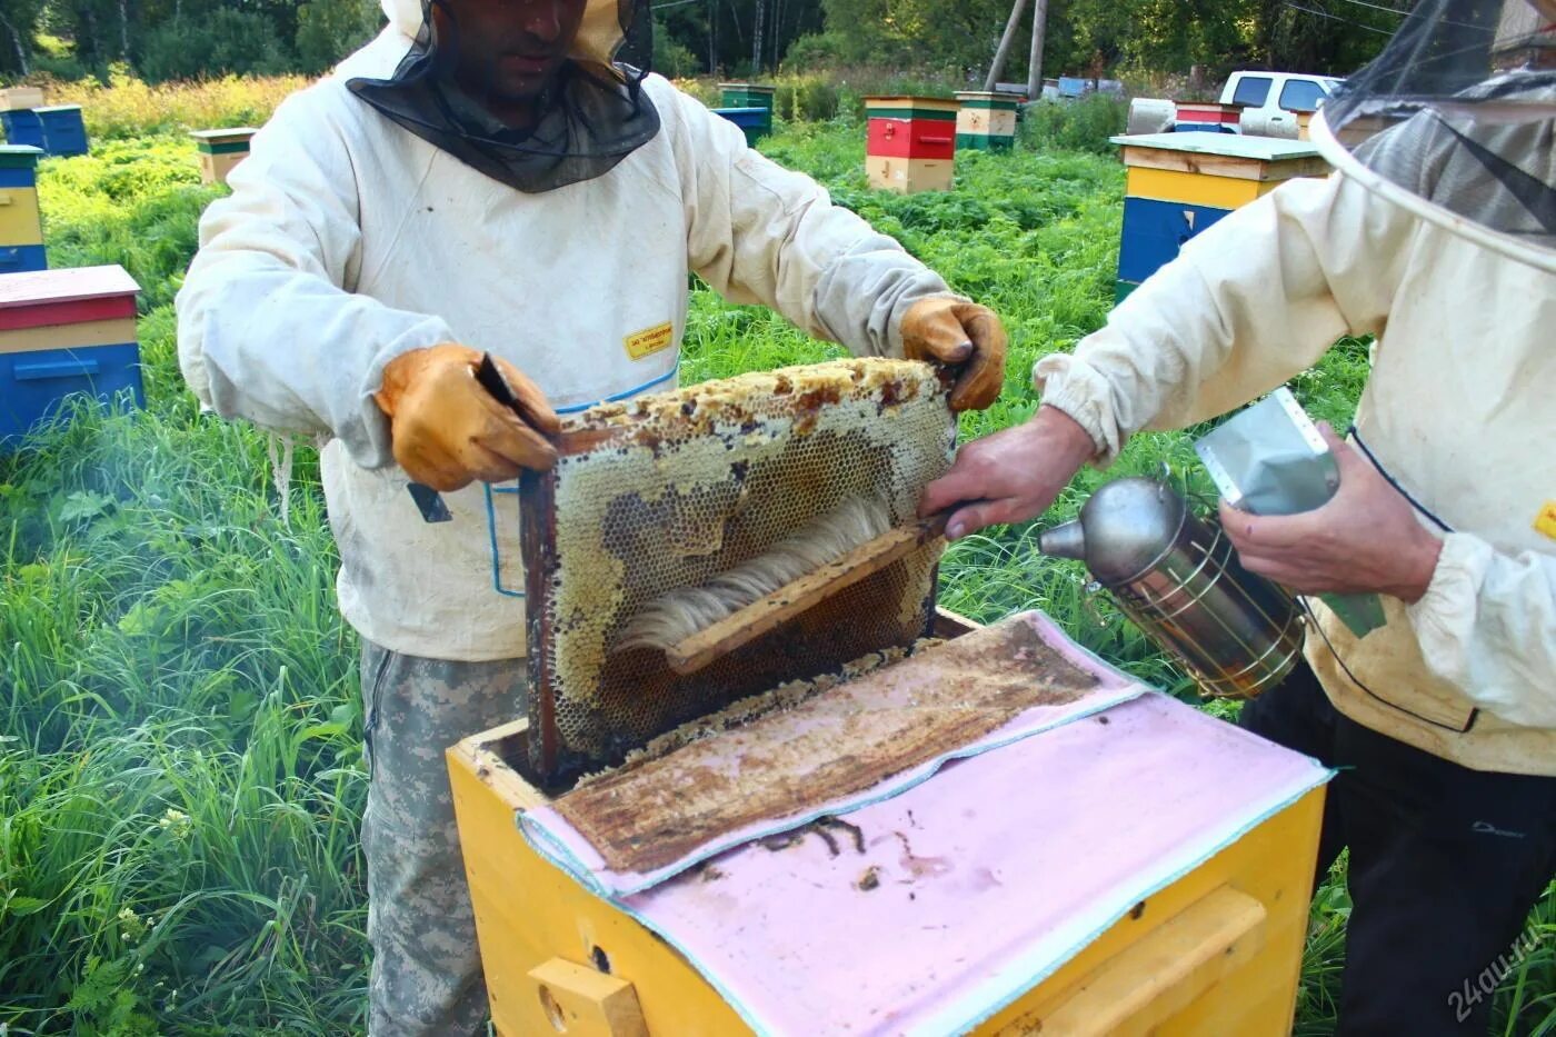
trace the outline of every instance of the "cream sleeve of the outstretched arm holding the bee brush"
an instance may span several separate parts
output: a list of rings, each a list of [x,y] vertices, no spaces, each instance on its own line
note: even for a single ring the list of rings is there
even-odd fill
[[[1341,176],[1291,181],[1190,240],[1071,355],[1043,402],[1109,462],[1141,428],[1181,428],[1268,392],[1343,335],[1383,327],[1416,223]]]

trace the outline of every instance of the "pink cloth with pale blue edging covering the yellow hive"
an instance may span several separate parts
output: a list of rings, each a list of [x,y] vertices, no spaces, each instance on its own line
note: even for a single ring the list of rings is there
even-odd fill
[[[1148,693],[612,898],[759,1034],[965,1032],[1329,775]]]

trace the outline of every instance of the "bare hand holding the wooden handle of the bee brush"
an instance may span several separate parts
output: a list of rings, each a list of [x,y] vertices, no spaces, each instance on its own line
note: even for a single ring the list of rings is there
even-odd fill
[[[946,525],[952,540],[1036,518],[1095,453],[1091,433],[1069,414],[1039,408],[1032,420],[962,447],[951,470],[924,489],[918,514],[955,506]]]

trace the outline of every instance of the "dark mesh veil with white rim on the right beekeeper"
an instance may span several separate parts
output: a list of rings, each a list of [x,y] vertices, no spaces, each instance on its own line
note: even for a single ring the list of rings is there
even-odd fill
[[[1556,0],[1421,0],[1313,140],[1422,218],[1556,271]]]

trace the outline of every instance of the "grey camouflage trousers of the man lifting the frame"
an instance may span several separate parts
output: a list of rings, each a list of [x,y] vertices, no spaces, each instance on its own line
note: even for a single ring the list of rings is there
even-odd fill
[[[443,751],[520,716],[523,659],[417,659],[363,642],[370,1037],[484,1034],[485,981]]]

